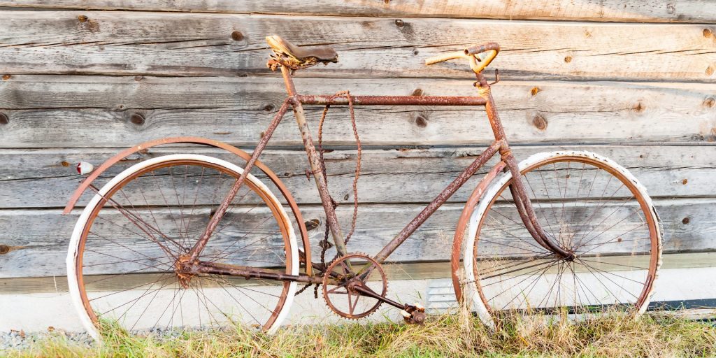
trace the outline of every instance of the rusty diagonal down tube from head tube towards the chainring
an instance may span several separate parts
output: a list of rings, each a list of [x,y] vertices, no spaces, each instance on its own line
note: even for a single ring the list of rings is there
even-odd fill
[[[448,199],[455,194],[455,191],[460,189],[460,187],[462,187],[463,184],[465,184],[468,179],[470,179],[470,177],[472,177],[475,172],[480,169],[480,167],[485,165],[485,163],[487,163],[487,161],[498,152],[501,145],[502,142],[499,141],[493,142],[489,147],[487,147],[487,149],[485,149],[485,151],[480,154],[480,156],[475,159],[475,161],[470,164],[468,168],[463,170],[463,173],[458,175],[458,178],[453,180],[453,183],[450,183],[447,187],[445,187],[445,189],[443,189],[442,192],[430,202],[430,204],[427,204],[427,206],[422,209],[422,211],[420,211],[420,213],[417,214],[417,216],[415,216],[415,218],[413,218],[412,221],[410,221],[410,223],[408,223],[407,226],[405,226],[405,228],[403,228],[402,231],[400,231],[400,233],[398,233],[397,236],[395,236],[395,238],[393,238],[390,243],[388,243],[375,256],[375,260],[379,263],[383,263],[385,259],[388,258],[393,251],[395,251],[395,249],[397,249],[405,240],[407,240],[407,238],[410,237],[410,235],[412,235],[412,233],[415,232],[415,230],[417,230],[417,228],[422,225],[422,223],[425,223],[427,218],[430,218],[430,216],[437,211],[437,208],[440,208],[442,204],[448,201]]]

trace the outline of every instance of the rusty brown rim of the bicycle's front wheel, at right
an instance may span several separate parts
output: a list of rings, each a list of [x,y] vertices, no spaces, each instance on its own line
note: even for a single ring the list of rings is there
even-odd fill
[[[639,295],[638,296],[632,295],[632,296],[634,296],[633,303],[627,302],[626,304],[621,305],[621,302],[617,302],[617,304],[614,304],[614,305],[607,305],[607,306],[611,306],[611,307],[622,307],[622,308],[626,307],[627,309],[631,309],[633,307],[633,308],[636,308],[636,311],[643,311],[643,309],[645,308],[645,304],[648,303],[649,296],[652,294],[654,279],[656,278],[656,273],[657,273],[657,269],[659,266],[659,260],[660,260],[660,257],[659,257],[660,241],[659,241],[658,223],[655,221],[654,216],[652,216],[652,208],[649,206],[649,203],[647,203],[647,198],[645,198],[644,195],[642,194],[642,192],[639,190],[639,188],[637,188],[637,185],[635,183],[633,183],[632,180],[629,180],[629,178],[627,178],[627,176],[624,175],[623,173],[620,173],[618,170],[616,170],[615,168],[612,168],[609,165],[605,165],[604,163],[602,163],[599,160],[594,160],[591,158],[584,158],[581,156],[561,156],[561,157],[557,157],[557,158],[548,158],[547,160],[543,160],[539,163],[535,163],[534,165],[530,165],[528,168],[525,168],[524,170],[522,170],[521,173],[523,173],[523,178],[525,178],[524,175],[533,172],[533,170],[536,170],[536,168],[546,167],[548,165],[556,166],[556,163],[565,163],[565,162],[571,162],[571,163],[576,162],[576,163],[584,163],[584,165],[592,165],[595,168],[604,170],[604,172],[611,175],[612,178],[618,179],[619,183],[621,183],[621,185],[623,185],[623,187],[626,188],[627,190],[629,190],[629,193],[631,193],[633,195],[633,198],[631,200],[636,201],[636,203],[638,204],[638,205],[636,205],[637,210],[644,213],[643,219],[645,222],[644,226],[646,228],[646,231],[644,231],[644,228],[642,228],[642,231],[644,231],[644,233],[648,232],[648,235],[649,235],[649,237],[648,237],[649,253],[648,253],[648,255],[644,255],[644,256],[648,257],[649,263],[648,263],[648,266],[644,266],[644,267],[639,266],[638,267],[638,269],[640,271],[644,271],[644,274],[645,274],[643,281],[639,281],[639,284],[641,287],[641,289],[639,290]],[[567,168],[569,170],[569,166]],[[582,167],[582,168],[584,168],[584,167]],[[566,175],[566,178],[569,179],[569,174]],[[492,277],[490,277],[490,275],[498,274],[498,272],[493,272],[491,274],[488,274],[485,271],[480,272],[480,264],[478,263],[478,257],[479,257],[478,255],[480,254],[480,249],[478,247],[480,244],[480,240],[483,240],[483,241],[488,240],[487,238],[483,238],[483,236],[481,235],[481,233],[483,233],[483,229],[486,226],[486,221],[488,221],[488,214],[490,213],[490,211],[493,211],[493,207],[495,206],[495,203],[497,202],[498,198],[503,197],[503,193],[505,193],[505,190],[507,190],[507,188],[510,185],[510,183],[512,182],[512,180],[513,179],[509,180],[507,183],[505,183],[505,185],[503,185],[502,188],[500,188],[500,190],[498,190],[498,193],[496,195],[494,195],[494,197],[491,199],[490,203],[488,204],[487,208],[485,209],[485,213],[483,214],[482,218],[480,218],[480,223],[478,225],[478,231],[477,231],[477,234],[475,237],[475,246],[473,247],[473,274],[475,275],[475,285],[477,286],[477,289],[478,289],[477,291],[480,296],[480,300],[483,301],[483,304],[488,309],[488,311],[490,311],[493,314],[497,313],[497,311],[502,311],[503,309],[505,309],[506,308],[505,306],[508,306],[510,304],[510,302],[508,302],[508,304],[506,304],[505,306],[495,307],[495,304],[491,303],[491,301],[493,299],[495,299],[494,294],[489,295],[489,296],[488,296],[488,294],[485,294],[485,291],[487,291],[485,289],[485,285],[492,284],[492,283],[484,282],[485,279],[492,278]],[[532,184],[528,183],[528,180],[523,180],[523,183],[525,183],[528,188],[530,188],[532,185]],[[529,189],[527,189],[527,191],[528,191],[528,195],[530,195],[530,198],[533,199],[534,192],[530,192]],[[566,191],[567,190],[564,189],[565,193],[566,193]],[[629,201],[629,199],[627,199],[626,201]],[[513,206],[514,204],[508,204],[508,205]],[[538,205],[539,204],[537,204],[537,205],[533,204],[533,207],[535,207],[535,206],[538,207]],[[545,210],[547,210],[547,209],[545,209]],[[541,225],[543,225],[543,228],[545,228],[546,231],[549,231],[548,228],[545,227],[546,226],[545,223],[543,223],[542,221],[541,221]],[[576,236],[576,234],[574,234],[573,236]],[[531,238],[531,236],[529,237],[529,239],[531,241],[533,241],[533,238]],[[619,239],[618,241],[615,241],[615,242],[621,243],[624,241]],[[614,243],[614,242],[607,242],[604,245],[606,245],[608,243]],[[591,244],[591,243],[585,242],[585,244]],[[581,258],[581,263],[586,263],[585,266],[591,267],[591,265],[590,265],[591,262],[588,263],[586,261],[586,260],[590,260],[590,258],[586,258],[589,256],[584,256],[583,253],[579,253],[579,252],[577,252],[577,255],[578,256],[582,255],[581,257],[583,257],[583,258]],[[577,260],[580,260],[580,258],[578,258]],[[555,261],[557,261],[557,260],[555,259]],[[594,261],[594,260],[591,260],[591,261]],[[545,266],[549,265],[549,264],[550,263],[544,263]],[[571,265],[572,270],[574,270],[574,265],[575,265],[574,263]],[[606,263],[606,265],[611,267],[611,269],[614,269],[614,266],[611,266],[611,265],[614,265],[614,263]],[[540,267],[540,266],[538,266],[538,263],[536,263],[535,270],[543,269],[545,266]],[[500,268],[499,266],[497,266],[497,267]],[[514,269],[520,269],[520,266],[517,266]],[[634,269],[630,269],[630,270],[634,270]],[[564,271],[566,271],[566,269],[564,269]],[[564,271],[562,271],[561,274],[564,274]],[[589,269],[588,269],[588,271],[589,271]],[[537,271],[537,272],[540,272],[540,271]],[[611,274],[609,274],[608,271],[600,272],[600,271],[595,270],[594,272],[596,272],[596,274],[594,274],[595,276],[606,276],[607,278],[609,278],[609,276],[611,275]],[[579,273],[575,274],[574,271],[571,271],[571,274],[573,274],[575,277],[579,276],[578,275]],[[557,275],[560,275],[559,271],[558,271]],[[555,283],[557,281],[561,281],[561,279],[560,278],[555,279]],[[516,285],[517,283],[513,281],[512,284]],[[553,286],[554,286],[554,284],[553,284]],[[584,289],[586,286],[587,286],[587,284],[584,282],[580,283],[579,279],[577,279],[574,284],[574,287],[576,288],[575,291],[579,292],[579,290],[582,289],[584,294],[586,296],[589,296],[590,292],[587,291],[586,289]],[[611,286],[611,284],[605,286],[607,290],[609,290],[609,286]],[[557,289],[557,291],[558,290],[559,289]],[[522,291],[522,293],[523,293],[523,296],[528,296],[531,292],[527,291],[526,295],[525,295],[525,291]],[[546,296],[549,296],[549,293]],[[593,298],[596,298],[596,296],[598,296],[598,295],[595,294],[595,296]],[[615,297],[616,297],[616,295],[615,295]],[[527,299],[525,299],[525,301],[526,300]],[[585,300],[585,301],[587,301],[587,300]],[[581,300],[580,300],[580,302],[581,302]],[[541,302],[539,302],[539,303],[541,304]],[[529,306],[529,305],[526,305],[526,306]],[[540,308],[539,304],[537,306],[538,307],[526,307],[526,308],[528,310],[531,310],[534,308]],[[574,306],[576,307],[579,305],[575,304]],[[582,306],[596,306],[596,305],[586,304],[586,305],[582,305]],[[520,310],[521,309],[518,309],[518,311],[520,311]],[[547,310],[547,311],[554,311],[554,310]],[[579,313],[580,310],[579,309],[571,309],[571,312]],[[581,312],[589,313],[589,312],[591,312],[591,309],[589,309],[589,308],[582,309]]]

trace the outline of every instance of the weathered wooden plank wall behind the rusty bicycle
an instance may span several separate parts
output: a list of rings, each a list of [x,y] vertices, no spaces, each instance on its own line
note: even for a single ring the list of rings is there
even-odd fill
[[[338,64],[299,72],[299,91],[354,95],[470,95],[465,64],[426,67],[425,57],[499,42],[492,67],[503,82],[493,92],[518,158],[558,147],[609,156],[649,188],[666,251],[714,251],[715,23],[707,0],[0,0],[0,291],[10,278],[64,275],[79,215],[59,215],[79,181],[67,163],[101,163],[172,135],[251,147],[285,97],[265,67],[270,34],[339,52]],[[131,120],[137,114],[143,122]],[[311,110],[314,129],[317,116]],[[366,151],[352,250],[374,253],[490,131],[483,112],[465,108],[368,108],[357,117]],[[326,142],[335,149],[326,155],[332,193],[350,203],[345,110],[330,112]],[[291,121],[272,143],[263,160],[306,219],[321,218]],[[447,259],[470,190],[395,258]],[[349,205],[339,216],[349,222]]]

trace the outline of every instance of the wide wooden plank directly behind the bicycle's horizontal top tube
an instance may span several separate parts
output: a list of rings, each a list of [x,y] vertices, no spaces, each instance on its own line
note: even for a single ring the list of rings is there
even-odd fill
[[[299,79],[299,91],[354,95],[474,95],[467,80]],[[255,145],[284,101],[279,78],[16,75],[0,81],[0,147],[110,147],[173,135]],[[500,82],[493,89],[513,143],[716,140],[716,84]],[[309,110],[314,135],[320,108]],[[143,124],[132,121],[141,115]],[[291,113],[271,145],[301,145]],[[364,145],[488,143],[483,107],[358,107]],[[657,123],[658,121],[658,123]],[[329,145],[353,145],[345,107],[326,122]]]

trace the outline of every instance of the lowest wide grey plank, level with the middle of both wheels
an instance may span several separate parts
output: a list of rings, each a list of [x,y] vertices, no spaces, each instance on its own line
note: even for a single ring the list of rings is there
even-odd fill
[[[664,228],[664,251],[716,249],[716,225],[712,215],[715,204],[713,199],[657,200],[655,205]],[[422,205],[363,205],[349,250],[377,253],[421,209]],[[444,205],[393,253],[391,261],[448,260],[462,209],[460,204]],[[322,208],[318,205],[304,205],[301,211],[306,220],[323,220]],[[339,206],[338,213],[343,225],[349,225],[351,208]],[[67,243],[78,215],[79,211],[70,216],[60,216],[59,210],[0,211],[0,245],[10,249],[0,255],[0,278],[64,274]],[[16,230],[20,227],[21,232]],[[317,242],[323,238],[323,231],[316,228],[310,234],[317,260],[320,250]],[[332,257],[330,252],[328,257]]]

